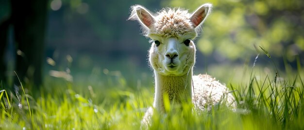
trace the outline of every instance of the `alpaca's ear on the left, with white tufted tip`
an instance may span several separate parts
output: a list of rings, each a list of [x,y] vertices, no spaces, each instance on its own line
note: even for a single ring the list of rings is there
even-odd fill
[[[151,28],[154,23],[154,17],[151,13],[141,5],[131,7],[131,15],[128,20],[138,20],[143,26]]]

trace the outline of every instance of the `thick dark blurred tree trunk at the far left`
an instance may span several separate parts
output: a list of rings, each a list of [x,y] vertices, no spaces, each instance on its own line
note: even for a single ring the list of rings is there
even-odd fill
[[[14,29],[13,42],[16,43],[16,72],[21,81],[34,83],[38,88],[42,80],[42,59],[44,55],[44,38],[48,0],[10,0],[11,15],[1,19],[0,41],[3,58],[5,44],[8,43],[9,26]],[[1,67],[5,65],[1,59]],[[5,78],[6,69],[1,68],[1,78]]]

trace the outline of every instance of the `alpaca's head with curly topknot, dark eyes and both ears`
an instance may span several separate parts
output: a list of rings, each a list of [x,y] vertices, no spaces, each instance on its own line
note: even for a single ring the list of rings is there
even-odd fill
[[[195,63],[193,40],[212,5],[203,4],[194,13],[182,9],[163,9],[152,15],[143,6],[132,6],[129,19],[138,20],[144,35],[151,38],[149,61],[163,76],[187,74]]]

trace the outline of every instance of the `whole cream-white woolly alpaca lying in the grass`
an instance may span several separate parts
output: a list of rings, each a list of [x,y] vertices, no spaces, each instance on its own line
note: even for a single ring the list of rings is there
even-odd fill
[[[192,100],[201,110],[210,109],[223,99],[227,105],[234,105],[234,97],[228,93],[225,85],[209,75],[192,76],[196,52],[193,39],[210,14],[211,7],[211,4],[203,4],[193,14],[168,8],[152,15],[141,5],[132,6],[129,19],[138,20],[144,35],[152,39],[149,62],[154,69],[153,107],[157,111],[164,112],[164,94],[175,104]],[[150,124],[152,112],[153,109],[149,108],[143,123]]]

